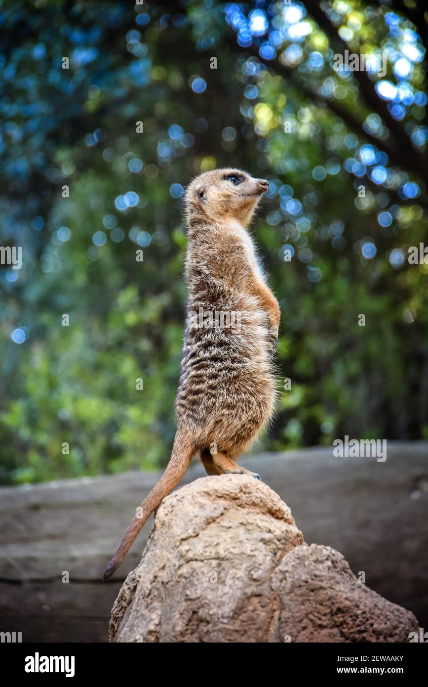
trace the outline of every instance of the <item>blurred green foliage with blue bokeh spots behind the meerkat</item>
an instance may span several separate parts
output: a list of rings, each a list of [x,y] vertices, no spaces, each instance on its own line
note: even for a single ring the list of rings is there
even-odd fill
[[[427,241],[424,12],[0,2],[0,244],[23,248],[0,266],[2,484],[167,462],[182,193],[223,166],[270,181],[252,232],[291,389],[262,448],[428,439],[428,264],[407,260]],[[385,74],[336,71],[345,49]]]

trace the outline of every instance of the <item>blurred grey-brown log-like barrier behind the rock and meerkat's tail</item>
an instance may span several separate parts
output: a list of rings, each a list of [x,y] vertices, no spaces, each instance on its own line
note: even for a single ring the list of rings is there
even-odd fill
[[[332,447],[239,458],[291,508],[307,543],[342,552],[351,570],[428,627],[428,442],[390,442],[388,460]],[[162,471],[0,487],[0,624],[23,642],[106,642],[112,604],[141,561],[145,523],[117,574],[102,575],[136,504]],[[199,463],[181,484],[204,476]],[[326,497],[328,495],[328,497]],[[399,532],[399,537],[397,537]],[[62,583],[63,571],[69,584]]]

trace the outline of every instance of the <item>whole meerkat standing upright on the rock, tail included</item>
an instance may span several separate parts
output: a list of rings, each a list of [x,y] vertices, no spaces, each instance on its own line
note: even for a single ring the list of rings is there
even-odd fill
[[[104,581],[194,456],[209,475],[260,479],[235,461],[268,425],[276,398],[273,354],[280,311],[246,230],[268,186],[241,170],[222,169],[200,174],[187,188],[188,317],[176,437],[165,473],[137,509]],[[238,313],[239,324],[236,317],[219,324],[210,313]]]

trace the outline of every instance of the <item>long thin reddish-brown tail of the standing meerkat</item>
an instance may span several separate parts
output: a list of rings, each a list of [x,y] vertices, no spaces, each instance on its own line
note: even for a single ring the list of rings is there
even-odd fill
[[[171,493],[174,487],[177,486],[178,482],[180,482],[182,477],[185,476],[194,453],[195,448],[190,447],[189,442],[182,440],[177,433],[176,438],[174,439],[174,447],[172,449],[171,458],[169,459],[167,468],[165,469],[162,477],[160,477],[160,480],[156,486],[152,488],[150,494],[144,499],[141,506],[137,509],[137,513],[132,518],[128,530],[126,530],[125,534],[123,535],[123,539],[119,544],[119,548],[117,548],[115,555],[112,557],[110,563],[108,563],[108,566],[106,567],[103,582],[106,582],[108,578],[115,573],[130,550],[145,521],[147,521],[165,496]]]

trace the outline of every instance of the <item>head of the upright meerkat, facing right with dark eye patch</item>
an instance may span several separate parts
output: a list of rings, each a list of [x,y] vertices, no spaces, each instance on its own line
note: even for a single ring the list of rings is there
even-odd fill
[[[193,179],[185,195],[187,215],[209,221],[239,221],[248,225],[269,181],[228,168],[204,172]]]

